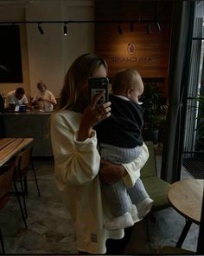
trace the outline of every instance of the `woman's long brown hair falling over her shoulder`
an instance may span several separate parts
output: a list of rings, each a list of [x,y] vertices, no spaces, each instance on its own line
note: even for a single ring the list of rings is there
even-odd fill
[[[107,70],[105,60],[94,54],[84,54],[73,62],[65,75],[57,111],[74,107],[80,95],[81,85],[85,84],[87,78],[92,76],[101,65]]]

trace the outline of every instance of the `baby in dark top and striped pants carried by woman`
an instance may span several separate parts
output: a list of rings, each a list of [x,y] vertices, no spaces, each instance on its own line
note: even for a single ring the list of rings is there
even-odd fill
[[[119,71],[112,82],[111,116],[96,127],[101,158],[116,164],[125,164],[137,159],[143,145],[142,108],[138,98],[143,94],[143,81],[135,69]],[[125,180],[111,186],[101,181],[102,191],[112,211],[112,218],[105,222],[105,228],[115,230],[132,226],[142,219],[153,205],[143,182],[138,179],[132,187],[125,186]],[[131,203],[133,207],[131,207]]]

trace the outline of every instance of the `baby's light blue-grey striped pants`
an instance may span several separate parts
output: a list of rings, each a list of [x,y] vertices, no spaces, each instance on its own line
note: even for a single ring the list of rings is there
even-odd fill
[[[117,164],[134,161],[141,152],[140,147],[118,148],[107,144],[101,144],[100,147],[101,158]],[[105,200],[107,200],[111,207],[111,213],[115,217],[130,211],[132,203],[137,206],[138,202],[149,197],[140,179],[136,181],[134,187],[126,187],[123,179],[111,186],[103,182],[100,183]]]

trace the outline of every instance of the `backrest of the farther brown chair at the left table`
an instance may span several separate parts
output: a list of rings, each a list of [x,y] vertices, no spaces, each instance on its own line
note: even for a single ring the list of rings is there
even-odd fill
[[[19,178],[20,174],[22,178],[28,174],[32,149],[33,149],[32,147],[27,148],[17,155],[16,161],[15,161],[16,163],[16,172],[14,175],[15,180]]]

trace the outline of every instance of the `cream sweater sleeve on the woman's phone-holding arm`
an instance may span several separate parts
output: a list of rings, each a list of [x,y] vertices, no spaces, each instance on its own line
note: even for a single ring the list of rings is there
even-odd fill
[[[99,172],[100,156],[97,150],[96,134],[86,141],[77,141],[77,131],[63,115],[51,119],[51,141],[54,152],[54,169],[57,186],[60,190],[67,183],[86,185]]]

